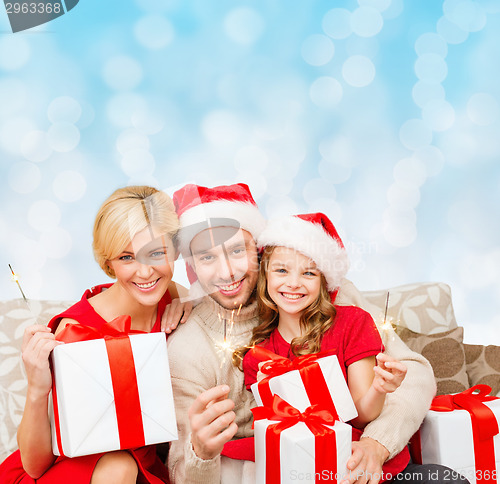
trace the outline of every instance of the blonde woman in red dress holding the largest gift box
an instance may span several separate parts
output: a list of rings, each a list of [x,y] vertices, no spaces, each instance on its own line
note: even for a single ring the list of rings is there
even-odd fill
[[[177,297],[171,282],[179,228],[172,200],[147,186],[115,191],[101,206],[94,225],[94,255],[113,284],[93,287],[81,301],[55,316],[48,327],[26,329],[22,357],[28,379],[19,451],[0,466],[3,484],[113,484],[168,482],[155,446],[75,458],[52,453],[48,398],[52,386],[49,355],[69,323],[99,329],[120,315],[131,329],[160,331],[165,308]],[[164,330],[167,328],[164,324]]]

